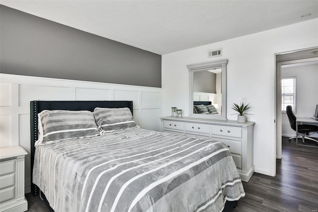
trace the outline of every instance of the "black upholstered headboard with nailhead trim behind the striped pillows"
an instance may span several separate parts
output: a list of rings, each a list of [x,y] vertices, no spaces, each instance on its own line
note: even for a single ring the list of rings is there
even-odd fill
[[[32,171],[35,153],[35,141],[38,139],[38,113],[43,110],[88,110],[94,111],[95,107],[121,108],[128,107],[133,114],[133,101],[31,101],[31,192],[39,194],[39,188],[32,183]]]

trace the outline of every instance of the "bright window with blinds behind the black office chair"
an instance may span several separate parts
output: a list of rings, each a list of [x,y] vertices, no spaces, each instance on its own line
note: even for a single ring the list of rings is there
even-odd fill
[[[282,78],[282,111],[286,112],[287,106],[293,107],[296,112],[296,77]]]

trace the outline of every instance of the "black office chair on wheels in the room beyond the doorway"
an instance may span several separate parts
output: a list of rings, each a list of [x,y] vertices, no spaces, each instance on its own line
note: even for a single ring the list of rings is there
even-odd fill
[[[292,127],[293,130],[296,131],[296,116],[293,113],[293,107],[287,106],[286,113],[287,113],[287,116],[289,119],[290,126]],[[299,124],[298,125],[298,133],[301,134],[299,137],[301,137],[303,139],[303,144],[305,144],[305,138],[306,138],[306,139],[315,141],[316,145],[318,145],[318,140],[315,140],[313,138],[306,136],[306,135],[309,135],[309,132],[317,132],[317,131],[318,131],[318,126],[316,126],[316,125],[311,125],[311,124]],[[288,141],[290,142],[290,139],[293,139],[293,138],[296,138],[296,136],[289,138]]]

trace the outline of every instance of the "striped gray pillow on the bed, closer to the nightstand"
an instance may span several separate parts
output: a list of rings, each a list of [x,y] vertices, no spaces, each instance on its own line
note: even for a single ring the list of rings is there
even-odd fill
[[[90,111],[43,110],[38,114],[39,139],[35,145],[99,135]]]

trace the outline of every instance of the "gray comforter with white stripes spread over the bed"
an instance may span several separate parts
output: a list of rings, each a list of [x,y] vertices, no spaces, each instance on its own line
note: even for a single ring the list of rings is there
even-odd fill
[[[37,146],[33,183],[56,212],[215,212],[245,195],[224,143],[137,127]]]

